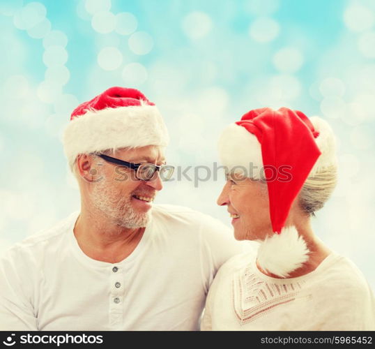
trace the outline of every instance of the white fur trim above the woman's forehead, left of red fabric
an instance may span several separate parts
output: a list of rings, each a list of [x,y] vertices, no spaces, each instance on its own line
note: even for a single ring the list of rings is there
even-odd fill
[[[237,124],[230,124],[224,128],[218,149],[220,161],[229,171],[234,170],[245,177],[261,179],[261,144],[246,128]]]

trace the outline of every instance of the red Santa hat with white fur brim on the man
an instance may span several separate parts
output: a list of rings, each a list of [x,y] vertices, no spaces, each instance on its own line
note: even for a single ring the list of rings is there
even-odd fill
[[[78,154],[106,149],[165,147],[167,128],[154,103],[137,89],[112,87],[82,103],[70,117],[63,147],[70,168]]]

